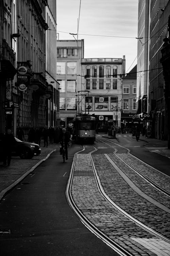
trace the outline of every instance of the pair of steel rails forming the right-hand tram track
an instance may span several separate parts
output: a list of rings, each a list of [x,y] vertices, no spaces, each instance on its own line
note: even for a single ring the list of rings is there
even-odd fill
[[[106,140],[106,139],[104,139],[104,140]],[[102,141],[102,140],[101,140],[101,141]],[[109,141],[109,140],[107,140],[107,141]],[[103,142],[104,142],[104,141],[103,141]],[[114,142],[112,142],[112,141],[109,141],[109,142],[111,142],[111,143],[113,143],[113,144],[116,144],[116,143],[114,143]],[[104,143],[106,143],[106,142],[104,142]],[[106,143],[106,144],[108,144],[108,143]],[[108,144],[108,145],[109,145],[109,144]],[[118,144],[116,144],[116,145],[118,145]],[[110,145],[109,145],[109,146],[110,146]],[[118,146],[120,146],[120,145],[118,145]],[[123,146],[120,146],[120,147],[123,147]],[[140,159],[137,158],[136,156],[132,155],[132,154],[130,153],[130,150],[129,150],[128,148],[126,148],[126,147],[123,147],[123,148],[125,148],[126,150],[128,150],[127,154],[129,154],[129,155],[132,156],[133,158],[137,159],[138,161],[142,162],[143,164],[145,164],[145,165],[148,166],[149,168],[152,168],[154,171],[158,171],[159,173],[164,174],[165,176],[168,176],[168,175],[166,175],[165,173],[160,172],[159,170],[155,169],[154,167],[148,165],[147,163],[145,163],[144,161],[140,160]],[[119,155],[116,153],[117,151],[118,151],[118,150],[115,149],[114,155],[115,155],[117,158],[119,158],[125,165],[127,165],[131,170],[133,170],[135,173],[137,173],[143,180],[145,180],[146,182],[148,182],[152,187],[156,188],[158,191],[160,191],[161,193],[163,193],[163,194],[166,195],[167,197],[170,197],[170,193],[169,193],[167,190],[165,190],[165,189],[163,189],[162,187],[158,186],[156,183],[154,183],[153,181],[151,181],[148,177],[146,177],[146,176],[143,175],[140,171],[138,171],[136,168],[134,168],[132,165],[130,165],[127,161],[125,161],[121,156],[119,156]],[[168,177],[169,177],[169,176],[168,176]]]

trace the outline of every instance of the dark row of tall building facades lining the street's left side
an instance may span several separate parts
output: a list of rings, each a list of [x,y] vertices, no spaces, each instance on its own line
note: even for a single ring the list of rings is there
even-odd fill
[[[56,126],[56,3],[0,1],[0,130]]]

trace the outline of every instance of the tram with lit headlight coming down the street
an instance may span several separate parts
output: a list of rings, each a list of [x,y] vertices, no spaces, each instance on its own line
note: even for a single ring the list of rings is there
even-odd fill
[[[77,142],[96,140],[96,118],[89,114],[81,114],[73,119],[73,139]]]

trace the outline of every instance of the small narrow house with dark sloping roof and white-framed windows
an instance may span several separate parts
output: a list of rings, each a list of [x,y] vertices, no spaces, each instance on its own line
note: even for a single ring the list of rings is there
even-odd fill
[[[122,79],[122,127],[132,128],[136,122],[136,77],[137,65]]]

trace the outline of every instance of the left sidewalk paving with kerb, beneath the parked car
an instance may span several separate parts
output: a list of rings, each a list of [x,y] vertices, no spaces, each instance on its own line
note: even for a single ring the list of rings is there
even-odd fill
[[[21,182],[30,172],[46,160],[53,152],[57,151],[59,155],[60,144],[49,144],[43,147],[41,142],[41,155],[34,156],[32,159],[20,159],[19,156],[12,157],[10,166],[2,166],[0,163],[0,200],[7,191]]]

